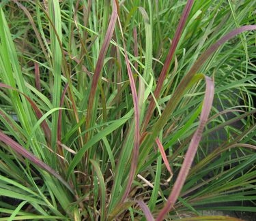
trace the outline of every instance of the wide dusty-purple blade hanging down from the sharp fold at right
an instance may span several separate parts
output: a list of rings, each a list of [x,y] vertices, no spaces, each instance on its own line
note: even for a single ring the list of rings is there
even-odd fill
[[[163,220],[165,218],[165,214],[167,214],[170,211],[170,209],[172,209],[174,203],[177,201],[177,197],[179,197],[180,195],[180,192],[185,183],[190,167],[193,163],[193,159],[197,152],[197,147],[201,140],[203,128],[210,114],[212,101],[214,98],[214,82],[212,82],[212,80],[207,76],[205,76],[205,81],[206,81],[206,90],[205,90],[205,97],[203,100],[202,112],[199,120],[199,126],[197,128],[197,131],[195,131],[195,134],[192,137],[192,140],[188,147],[188,151],[186,152],[186,155],[184,158],[184,162],[182,163],[182,168],[180,169],[180,173],[177,176],[177,180],[175,181],[175,184],[173,186],[173,190],[171,191],[171,194],[167,200],[165,207],[160,211],[160,214],[158,214],[156,221]]]

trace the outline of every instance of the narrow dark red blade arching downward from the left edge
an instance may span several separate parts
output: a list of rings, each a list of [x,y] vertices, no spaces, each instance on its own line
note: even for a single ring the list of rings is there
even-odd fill
[[[6,84],[0,83],[0,88],[8,88],[11,90],[16,90],[17,92],[19,92],[21,95],[23,95],[27,101],[29,101],[29,103],[31,104],[31,107],[33,108],[36,116],[38,119],[42,118],[42,113],[40,111],[40,109],[38,108],[37,105],[35,105],[35,103],[25,94],[23,94],[23,92],[18,91],[15,88],[12,88],[11,86],[8,86]],[[51,130],[48,126],[48,124],[46,123],[46,120],[43,120],[42,124],[41,124],[42,130],[44,131],[44,135],[46,137],[46,141],[48,142],[48,145],[50,146],[51,143]]]

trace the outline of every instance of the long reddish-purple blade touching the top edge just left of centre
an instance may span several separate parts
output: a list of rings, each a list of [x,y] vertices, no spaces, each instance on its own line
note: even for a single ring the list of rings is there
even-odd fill
[[[106,56],[106,52],[109,48],[111,37],[112,37],[114,29],[115,29],[115,22],[117,20],[117,3],[115,1],[112,1],[112,4],[113,4],[113,11],[111,14],[111,20],[109,21],[109,27],[106,30],[106,36],[104,38],[102,48],[100,49],[100,54],[99,54],[98,61],[96,64],[96,69],[94,71],[94,77],[93,77],[92,83],[91,83],[91,92],[89,94],[89,101],[88,101],[88,107],[87,107],[87,118],[86,118],[86,123],[85,123],[87,129],[90,127],[92,110],[93,110],[93,106],[94,106],[94,97],[96,95],[97,84],[98,84],[98,80],[100,78],[100,73],[102,71],[104,57]],[[88,133],[85,135],[85,142],[87,142],[87,139],[88,139]]]

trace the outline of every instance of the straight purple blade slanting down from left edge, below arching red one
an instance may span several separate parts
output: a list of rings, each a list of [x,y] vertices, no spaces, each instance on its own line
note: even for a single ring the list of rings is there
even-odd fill
[[[56,177],[63,185],[65,185],[70,190],[70,192],[74,193],[70,185],[65,180],[63,180],[63,178],[61,177],[61,175],[59,175],[59,173],[57,173],[54,169],[52,169],[51,167],[46,165],[44,162],[42,162],[42,160],[40,160],[39,158],[31,154],[31,152],[28,152],[25,148],[23,148],[23,146],[20,146],[20,144],[18,144],[16,141],[14,141],[13,139],[5,135],[2,131],[0,131],[0,141],[10,146],[18,154],[30,160],[37,167],[40,167],[44,171],[51,173],[51,175]]]

